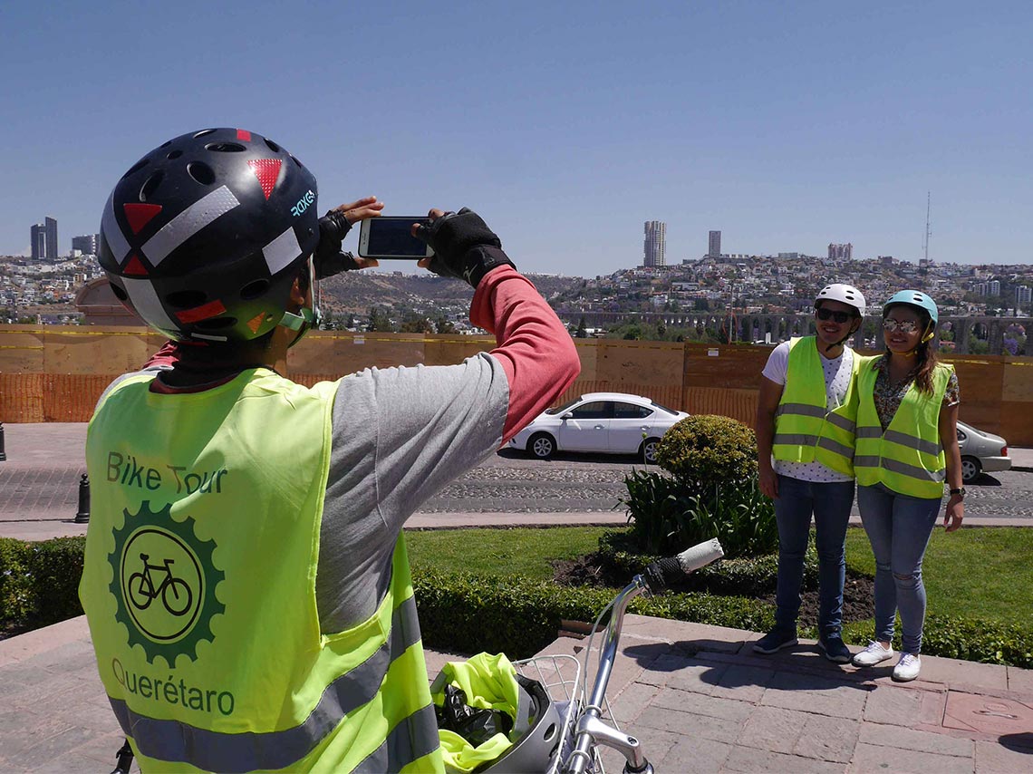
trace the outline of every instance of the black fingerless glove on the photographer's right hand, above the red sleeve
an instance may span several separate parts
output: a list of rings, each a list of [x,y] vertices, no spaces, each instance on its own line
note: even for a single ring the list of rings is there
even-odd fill
[[[434,250],[428,269],[442,277],[466,280],[474,288],[493,269],[516,268],[502,252],[502,241],[495,231],[466,207],[442,215],[429,226],[420,226],[416,236]]]

